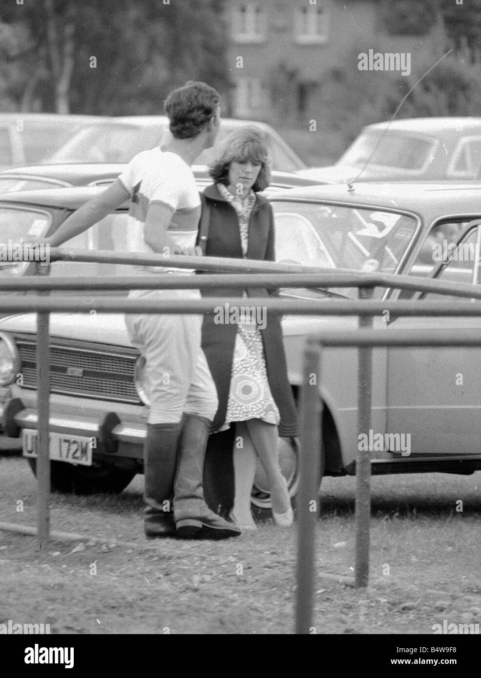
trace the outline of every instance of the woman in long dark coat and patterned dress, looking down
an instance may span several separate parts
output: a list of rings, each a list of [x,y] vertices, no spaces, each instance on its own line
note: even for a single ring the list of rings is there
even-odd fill
[[[261,129],[246,125],[229,136],[222,156],[211,168],[214,184],[202,197],[199,243],[206,256],[275,260],[272,207],[258,191],[270,180],[268,151]],[[206,231],[207,233],[204,233]],[[244,529],[255,529],[250,495],[260,458],[269,479],[273,517],[292,525],[286,479],[280,471],[279,435],[297,435],[282,329],[277,315],[255,314],[248,297],[265,297],[265,289],[204,290],[204,296],[239,298],[238,306],[206,315],[202,348],[217,387],[219,406],[212,429],[235,426],[233,445],[234,502],[231,517]],[[255,315],[255,317],[253,317]]]

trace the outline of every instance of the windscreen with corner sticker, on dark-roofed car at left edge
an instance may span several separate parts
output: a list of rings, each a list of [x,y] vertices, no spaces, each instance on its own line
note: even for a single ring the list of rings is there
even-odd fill
[[[22,275],[28,262],[21,262],[23,242],[35,244],[47,233],[50,214],[28,208],[4,207],[0,205],[0,275]],[[39,261],[47,262],[41,252]]]

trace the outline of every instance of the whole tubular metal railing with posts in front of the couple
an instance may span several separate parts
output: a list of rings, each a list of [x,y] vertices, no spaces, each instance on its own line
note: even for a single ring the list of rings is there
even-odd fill
[[[319,456],[322,443],[322,399],[320,387],[322,376],[322,348],[324,346],[353,346],[358,348],[358,430],[368,431],[371,409],[372,346],[480,346],[481,334],[473,331],[438,332],[433,338],[421,330],[402,331],[391,328],[389,334],[372,330],[374,316],[386,311],[400,316],[451,316],[480,317],[481,304],[448,301],[378,301],[372,300],[375,287],[387,289],[435,292],[449,296],[481,299],[481,290],[463,283],[445,283],[425,278],[379,273],[352,273],[349,271],[307,268],[296,264],[276,264],[252,260],[230,260],[212,257],[172,256],[139,253],[118,254],[112,252],[85,252],[52,248],[50,259],[76,260],[79,262],[142,264],[168,266],[169,268],[196,268],[215,275],[160,275],[132,276],[119,279],[105,277],[61,278],[24,277],[0,280],[1,292],[26,292],[35,290],[38,296],[2,296],[0,313],[37,313],[37,377],[38,377],[38,422],[39,453],[37,458],[37,481],[39,504],[37,511],[37,540],[44,544],[50,534],[50,463],[49,463],[49,418],[50,418],[50,363],[49,325],[50,313],[212,313],[223,304],[232,304],[239,298],[210,297],[199,300],[159,299],[140,300],[102,296],[90,298],[79,304],[78,296],[70,298],[45,297],[53,291],[102,291],[118,292],[134,289],[200,289],[222,287],[232,288],[268,287],[279,288],[323,288],[358,287],[359,300],[289,300],[282,298],[249,298],[243,304],[266,309],[275,315],[314,316],[356,316],[359,330],[356,332],[324,332],[309,336],[305,348],[305,366],[301,390],[301,482],[298,500],[298,569],[296,599],[296,631],[309,633],[312,620],[315,523],[317,511],[310,510],[311,501],[318,500]],[[38,266],[39,273],[46,273],[46,267]],[[43,271],[42,271],[43,268]],[[228,273],[229,275],[222,275]],[[309,375],[318,376],[316,388],[309,386]],[[355,502],[355,586],[367,586],[369,565],[369,519],[370,519],[370,456],[359,452],[356,459],[356,502]]]

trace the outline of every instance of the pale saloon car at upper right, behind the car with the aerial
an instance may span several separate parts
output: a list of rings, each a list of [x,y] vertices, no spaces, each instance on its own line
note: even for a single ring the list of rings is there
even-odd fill
[[[413,118],[364,127],[330,167],[303,176],[332,182],[477,179],[481,169],[481,118]]]

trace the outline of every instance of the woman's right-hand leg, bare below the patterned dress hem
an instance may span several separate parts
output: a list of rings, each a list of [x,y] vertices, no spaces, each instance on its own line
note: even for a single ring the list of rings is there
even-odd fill
[[[274,513],[287,513],[290,509],[290,496],[286,479],[279,466],[279,433],[277,426],[267,424],[261,419],[249,419],[245,422],[250,433],[254,449],[269,479],[272,510]]]

